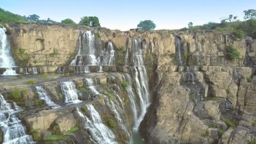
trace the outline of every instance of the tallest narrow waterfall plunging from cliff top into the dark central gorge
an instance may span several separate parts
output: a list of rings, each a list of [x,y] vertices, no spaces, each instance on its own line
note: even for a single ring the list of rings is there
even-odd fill
[[[132,60],[134,67],[129,72],[134,74],[136,82],[136,92],[139,96],[140,114],[138,120],[135,121],[133,129],[138,131],[139,125],[143,120],[147,107],[149,106],[149,88],[147,71],[143,64],[142,52],[141,52],[141,40],[136,37],[132,37]]]

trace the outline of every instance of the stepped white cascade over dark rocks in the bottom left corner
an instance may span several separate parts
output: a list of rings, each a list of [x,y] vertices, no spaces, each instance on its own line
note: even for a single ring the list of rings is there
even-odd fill
[[[3,131],[3,144],[34,143],[32,136],[26,134],[26,128],[16,116],[16,112],[21,109],[14,102],[13,107],[14,109],[0,94],[0,129]]]

